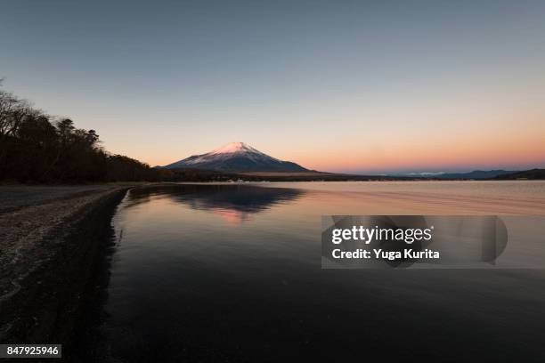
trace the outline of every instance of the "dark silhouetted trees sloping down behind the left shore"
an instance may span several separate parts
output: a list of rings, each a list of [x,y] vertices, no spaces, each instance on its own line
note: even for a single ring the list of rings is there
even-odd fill
[[[161,171],[110,155],[94,130],[76,128],[0,89],[0,181],[157,181]]]

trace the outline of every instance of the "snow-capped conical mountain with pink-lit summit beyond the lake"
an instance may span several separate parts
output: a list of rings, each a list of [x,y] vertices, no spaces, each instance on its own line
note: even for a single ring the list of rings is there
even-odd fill
[[[206,169],[220,172],[307,172],[301,165],[269,157],[244,142],[232,142],[202,155],[163,166],[166,169]]]

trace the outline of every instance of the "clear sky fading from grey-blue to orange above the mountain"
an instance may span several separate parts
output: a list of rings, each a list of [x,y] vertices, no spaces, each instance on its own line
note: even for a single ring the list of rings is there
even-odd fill
[[[545,166],[541,0],[4,0],[0,77],[150,165],[243,141],[329,172]]]

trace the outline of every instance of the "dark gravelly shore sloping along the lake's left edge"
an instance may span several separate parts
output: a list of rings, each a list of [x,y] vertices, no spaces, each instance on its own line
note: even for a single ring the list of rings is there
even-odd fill
[[[76,191],[0,211],[0,341],[69,348],[111,218],[130,188]]]

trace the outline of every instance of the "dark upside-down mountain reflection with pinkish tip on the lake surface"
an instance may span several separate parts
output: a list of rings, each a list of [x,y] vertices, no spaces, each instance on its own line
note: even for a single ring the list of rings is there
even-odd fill
[[[167,197],[193,209],[212,212],[226,222],[240,223],[251,214],[292,202],[303,193],[303,190],[240,184],[177,184],[131,190],[127,206]]]

